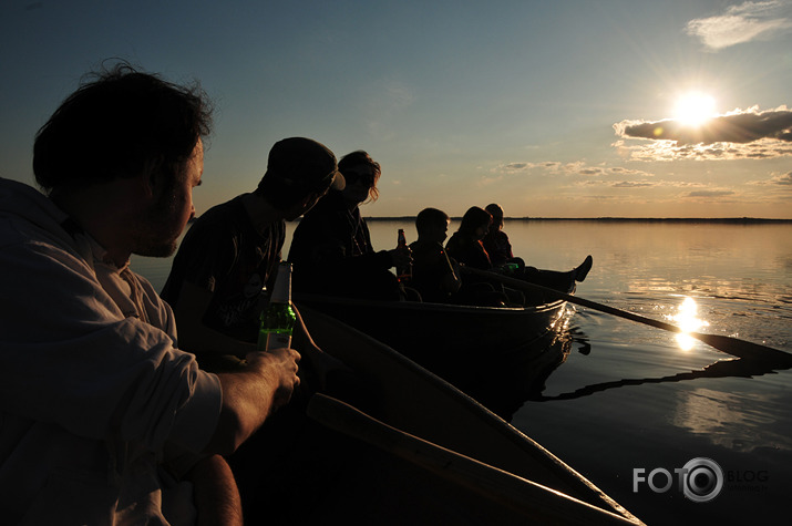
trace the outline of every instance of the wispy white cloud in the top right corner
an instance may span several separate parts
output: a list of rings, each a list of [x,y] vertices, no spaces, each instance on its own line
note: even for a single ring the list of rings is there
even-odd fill
[[[731,6],[722,14],[691,20],[686,31],[713,51],[758,39],[767,40],[792,28],[790,7],[785,0],[749,1]]]

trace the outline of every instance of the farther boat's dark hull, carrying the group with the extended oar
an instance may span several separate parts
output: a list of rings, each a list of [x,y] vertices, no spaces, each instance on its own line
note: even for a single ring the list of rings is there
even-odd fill
[[[564,323],[565,313],[565,301],[544,302],[538,297],[524,308],[309,295],[294,299],[300,310],[309,307],[330,314],[463,390],[500,374],[502,359],[541,352],[537,342]]]

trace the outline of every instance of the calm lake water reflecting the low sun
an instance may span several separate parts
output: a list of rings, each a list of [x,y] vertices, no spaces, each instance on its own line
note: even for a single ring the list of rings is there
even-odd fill
[[[415,238],[410,221],[369,225],[378,249],[395,246],[398,228]],[[566,270],[593,255],[579,297],[792,352],[792,225],[507,220],[505,230],[538,268]],[[133,268],[160,289],[169,260],[135,258]],[[648,524],[789,524],[791,370],[569,309],[568,358],[513,425]],[[720,492],[696,486],[717,493],[704,503],[686,498],[675,473],[714,473],[698,458],[722,474]]]

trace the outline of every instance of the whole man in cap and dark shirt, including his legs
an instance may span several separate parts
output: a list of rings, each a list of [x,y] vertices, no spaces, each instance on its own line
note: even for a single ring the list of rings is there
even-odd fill
[[[210,208],[194,223],[174,258],[163,298],[174,308],[182,345],[198,355],[202,367],[217,371],[245,367],[240,351],[255,349],[261,289],[272,289],[286,221],[300,217],[331,188],[343,186],[330,149],[309,138],[285,138],[271,147],[254,192]],[[315,479],[332,476],[323,465],[332,454],[327,451],[332,439],[322,430],[300,433],[309,425],[305,404],[310,395],[315,391],[357,395],[350,392],[358,389],[358,381],[316,347],[299,311],[297,316],[292,347],[304,357],[300,385],[266,433],[256,433],[228,457],[250,523],[268,519],[274,487],[295,476],[296,456],[310,460],[317,470]]]

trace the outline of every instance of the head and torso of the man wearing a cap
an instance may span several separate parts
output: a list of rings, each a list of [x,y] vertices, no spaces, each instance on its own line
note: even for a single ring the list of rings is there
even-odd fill
[[[249,350],[258,331],[261,289],[271,289],[280,261],[286,221],[311,209],[330,188],[343,187],[330,149],[310,138],[285,138],[270,149],[254,192],[195,220],[162,297],[175,311],[179,344],[196,353],[202,367],[234,362],[213,353],[218,342],[232,355]]]

